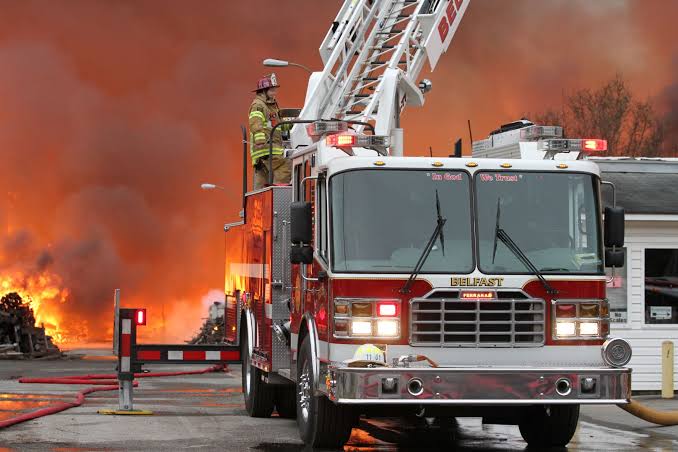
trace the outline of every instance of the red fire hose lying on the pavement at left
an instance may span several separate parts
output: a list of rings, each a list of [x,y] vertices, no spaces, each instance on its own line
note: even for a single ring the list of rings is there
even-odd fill
[[[152,377],[176,377],[179,375],[197,375],[206,374],[210,372],[219,372],[224,370],[223,365],[210,366],[202,370],[190,370],[184,372],[143,372],[135,373],[134,378],[152,378]],[[116,391],[119,389],[116,374],[88,374],[88,375],[69,375],[63,377],[53,378],[20,378],[19,383],[41,383],[41,384],[60,384],[60,385],[93,385],[90,388],[82,389],[76,394],[73,402],[60,402],[55,405],[42,408],[30,413],[15,416],[9,419],[0,421],[0,429],[9,427],[10,425],[19,424],[21,422],[37,419],[39,417],[48,416],[50,414],[59,413],[69,408],[80,406],[85,401],[85,396],[93,392],[99,391]],[[134,382],[134,387],[139,385]]]

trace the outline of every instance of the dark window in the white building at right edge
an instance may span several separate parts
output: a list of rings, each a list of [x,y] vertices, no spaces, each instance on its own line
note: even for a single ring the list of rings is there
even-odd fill
[[[645,250],[645,323],[678,323],[678,249]]]

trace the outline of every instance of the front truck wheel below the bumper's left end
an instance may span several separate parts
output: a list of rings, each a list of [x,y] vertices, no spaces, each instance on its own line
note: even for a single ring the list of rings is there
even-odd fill
[[[313,395],[311,342],[304,338],[297,361],[297,425],[307,446],[338,448],[351,436],[358,420],[352,406],[336,405],[324,395]]]

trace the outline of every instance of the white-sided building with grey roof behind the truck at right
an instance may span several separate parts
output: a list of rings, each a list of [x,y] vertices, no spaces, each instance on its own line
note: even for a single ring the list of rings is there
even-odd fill
[[[608,284],[611,335],[633,347],[633,390],[657,391],[662,342],[678,349],[678,159],[595,160],[626,209],[626,265]]]

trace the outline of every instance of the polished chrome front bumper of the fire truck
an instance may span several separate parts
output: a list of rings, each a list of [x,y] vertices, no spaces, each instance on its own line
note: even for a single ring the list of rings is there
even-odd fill
[[[623,404],[631,397],[627,368],[329,366],[327,371],[324,389],[344,404]],[[395,388],[389,378],[395,379]],[[594,379],[593,390],[582,387],[587,378]],[[408,390],[413,379],[421,381],[420,394]],[[563,391],[563,380],[569,382],[569,392]]]

